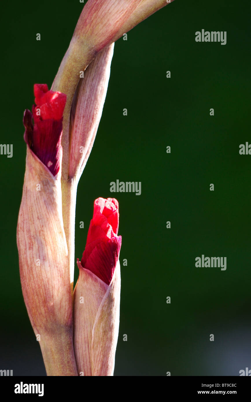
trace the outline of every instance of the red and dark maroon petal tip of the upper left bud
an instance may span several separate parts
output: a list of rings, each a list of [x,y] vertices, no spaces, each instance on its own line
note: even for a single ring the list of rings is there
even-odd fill
[[[35,84],[34,95],[36,105],[32,107],[32,114],[26,109],[23,119],[25,142],[56,176],[62,158],[61,137],[66,95],[49,91],[47,84]]]

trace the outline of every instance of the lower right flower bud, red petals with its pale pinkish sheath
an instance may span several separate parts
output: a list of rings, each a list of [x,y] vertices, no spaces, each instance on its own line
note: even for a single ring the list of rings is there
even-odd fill
[[[74,289],[73,343],[79,375],[113,375],[119,333],[119,205],[98,198]]]

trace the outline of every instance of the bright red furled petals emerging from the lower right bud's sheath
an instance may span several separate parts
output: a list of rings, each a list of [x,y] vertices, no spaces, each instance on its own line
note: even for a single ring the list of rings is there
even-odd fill
[[[98,198],[94,202],[93,219],[88,230],[81,265],[102,281],[111,282],[121,248],[117,236],[119,204],[115,198]]]

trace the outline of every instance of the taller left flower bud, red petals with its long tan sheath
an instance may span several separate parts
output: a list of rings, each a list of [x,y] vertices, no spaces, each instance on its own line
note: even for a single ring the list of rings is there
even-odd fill
[[[17,226],[21,285],[47,375],[76,375],[73,283],[61,191],[66,95],[48,91],[47,85],[35,85],[34,93],[33,116],[29,110],[24,116],[27,157]]]

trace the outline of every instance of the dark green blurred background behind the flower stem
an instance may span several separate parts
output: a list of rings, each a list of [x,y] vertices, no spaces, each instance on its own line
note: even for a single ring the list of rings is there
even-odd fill
[[[251,369],[251,156],[239,155],[239,144],[251,143],[249,4],[176,0],[115,44],[76,205],[81,258],[93,201],[119,201],[120,261],[127,258],[128,266],[121,263],[115,375],[239,375]],[[13,369],[13,375],[45,375],[16,247],[23,111],[32,107],[34,83],[51,85],[81,10],[78,0],[26,0],[5,2],[2,12],[0,143],[13,144],[13,157],[0,155],[0,369]],[[196,43],[202,29],[226,31],[226,45]],[[142,194],[110,193],[116,179],[141,181]],[[226,271],[196,268],[202,254],[226,256]]]

